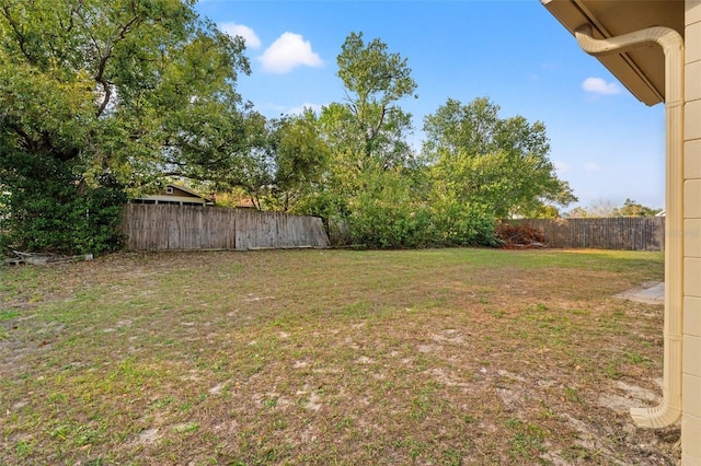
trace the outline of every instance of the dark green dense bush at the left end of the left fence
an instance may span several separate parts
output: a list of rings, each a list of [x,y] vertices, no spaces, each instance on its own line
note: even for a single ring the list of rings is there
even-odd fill
[[[20,158],[21,161],[13,159]],[[108,175],[88,187],[54,159],[14,153],[0,160],[8,189],[5,247],[28,252],[102,253],[122,245],[124,186]],[[13,168],[10,171],[10,168]]]

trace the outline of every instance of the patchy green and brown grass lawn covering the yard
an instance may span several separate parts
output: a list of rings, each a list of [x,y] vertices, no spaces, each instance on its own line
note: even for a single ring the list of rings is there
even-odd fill
[[[123,254],[0,268],[0,464],[675,464],[657,253]]]

